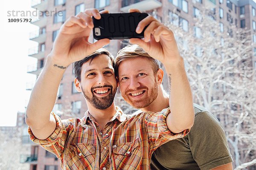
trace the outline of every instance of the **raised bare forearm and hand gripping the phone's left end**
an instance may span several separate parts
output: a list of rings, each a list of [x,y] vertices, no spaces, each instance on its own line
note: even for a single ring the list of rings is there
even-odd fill
[[[108,11],[101,11],[105,12]],[[109,43],[108,39],[93,44],[88,42],[93,28],[92,16],[100,19],[99,11],[87,9],[68,18],[61,26],[44,69],[35,83],[26,110],[26,123],[38,139],[46,139],[55,130],[55,118],[50,113],[68,65]]]

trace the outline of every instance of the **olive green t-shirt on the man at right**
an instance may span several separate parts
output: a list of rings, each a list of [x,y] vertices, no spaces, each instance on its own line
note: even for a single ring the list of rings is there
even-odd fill
[[[151,170],[210,170],[233,161],[224,129],[207,111],[195,108],[189,134],[154,151]]]

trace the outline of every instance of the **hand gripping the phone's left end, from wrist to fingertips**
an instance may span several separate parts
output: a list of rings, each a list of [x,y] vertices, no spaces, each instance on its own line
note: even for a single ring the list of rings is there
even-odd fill
[[[110,42],[109,39],[102,39],[95,43],[88,42],[93,29],[92,17],[100,19],[100,13],[108,13],[108,11],[87,9],[76,16],[69,17],[61,26],[49,57],[52,57],[57,64],[68,66],[107,45]]]

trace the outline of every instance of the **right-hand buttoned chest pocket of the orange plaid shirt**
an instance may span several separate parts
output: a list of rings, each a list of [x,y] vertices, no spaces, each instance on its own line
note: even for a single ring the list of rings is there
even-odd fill
[[[113,153],[116,163],[116,169],[122,170],[137,169],[138,165],[142,161],[142,148],[139,139],[133,142],[127,142],[122,144],[113,145]]]

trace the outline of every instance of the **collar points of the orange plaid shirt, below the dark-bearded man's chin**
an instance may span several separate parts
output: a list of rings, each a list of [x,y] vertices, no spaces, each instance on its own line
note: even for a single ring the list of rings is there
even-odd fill
[[[119,122],[123,122],[124,120],[127,119],[127,117],[128,117],[128,115],[123,113],[122,110],[118,106],[116,106],[116,113],[114,114],[113,118],[109,122],[112,122],[115,119],[118,120]],[[95,121],[96,122],[96,120],[89,113],[89,111],[86,111],[84,113],[84,117],[82,118],[81,124],[84,125],[84,124],[86,124],[87,121]]]

